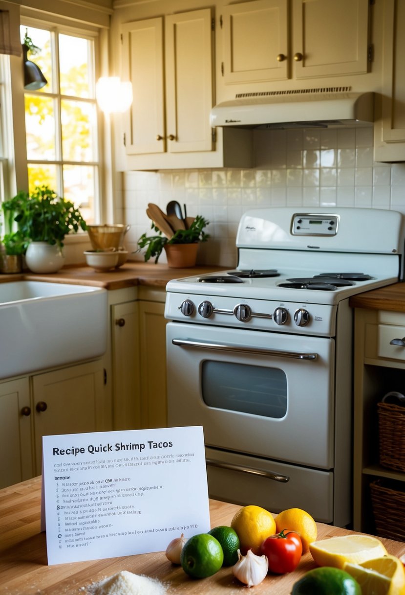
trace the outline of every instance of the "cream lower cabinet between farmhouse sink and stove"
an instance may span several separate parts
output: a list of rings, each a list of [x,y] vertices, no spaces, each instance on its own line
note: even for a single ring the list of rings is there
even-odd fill
[[[110,293],[114,430],[167,425],[164,289]]]

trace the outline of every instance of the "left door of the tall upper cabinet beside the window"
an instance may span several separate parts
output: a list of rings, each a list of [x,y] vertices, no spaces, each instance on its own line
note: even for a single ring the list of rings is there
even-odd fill
[[[125,114],[126,154],[162,153],[166,150],[162,18],[125,23],[122,52],[124,73],[134,94]]]

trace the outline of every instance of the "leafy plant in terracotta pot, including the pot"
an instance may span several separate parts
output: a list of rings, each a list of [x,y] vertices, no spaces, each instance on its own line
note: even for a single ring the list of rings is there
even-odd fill
[[[147,236],[143,234],[138,240],[138,252],[146,248],[144,253],[145,262],[154,258],[155,264],[164,249],[167,256],[167,264],[170,268],[194,267],[197,260],[197,250],[200,242],[206,242],[210,235],[205,233],[204,227],[208,221],[197,215],[188,229],[179,229],[169,239],[163,236],[159,227],[152,224],[152,229],[156,235]]]

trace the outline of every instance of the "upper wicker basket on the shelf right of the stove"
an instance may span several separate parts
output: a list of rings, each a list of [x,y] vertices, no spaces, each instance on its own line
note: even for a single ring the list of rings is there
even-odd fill
[[[388,469],[405,471],[405,407],[377,403],[379,463]]]

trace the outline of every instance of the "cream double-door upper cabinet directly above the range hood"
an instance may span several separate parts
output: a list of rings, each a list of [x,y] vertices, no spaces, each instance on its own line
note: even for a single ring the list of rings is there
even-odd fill
[[[368,0],[255,0],[224,8],[225,84],[368,70]]]

